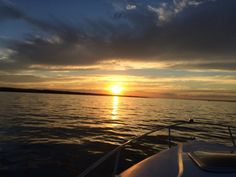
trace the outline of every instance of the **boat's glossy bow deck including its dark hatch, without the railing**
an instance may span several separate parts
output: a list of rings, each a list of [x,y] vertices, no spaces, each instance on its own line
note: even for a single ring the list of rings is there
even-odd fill
[[[119,177],[235,177],[233,149],[201,141],[179,144],[124,171]]]

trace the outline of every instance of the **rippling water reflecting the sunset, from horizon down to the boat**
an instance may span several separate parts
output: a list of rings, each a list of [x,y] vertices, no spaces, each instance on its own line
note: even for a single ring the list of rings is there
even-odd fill
[[[134,135],[189,118],[236,125],[236,103],[0,93],[0,176],[75,177]],[[191,136],[229,142],[227,129],[219,127],[182,127],[173,134],[174,142]],[[167,148],[166,135],[161,131],[126,148],[119,170]],[[106,176],[112,161],[91,176]]]

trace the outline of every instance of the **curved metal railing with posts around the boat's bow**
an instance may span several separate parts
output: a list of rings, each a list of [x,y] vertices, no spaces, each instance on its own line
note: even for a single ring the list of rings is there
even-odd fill
[[[175,123],[175,124],[172,124],[172,125],[167,125],[167,126],[159,126],[158,128],[155,128],[155,129],[153,129],[149,132],[146,132],[142,135],[133,137],[132,139],[126,141],[125,143],[119,145],[118,147],[116,147],[112,151],[110,151],[107,154],[105,154],[104,156],[102,156],[100,159],[98,159],[96,162],[94,162],[91,166],[89,166],[86,170],[84,170],[81,174],[79,174],[78,177],[87,176],[89,173],[91,173],[93,170],[95,170],[99,165],[101,165],[104,161],[106,161],[109,157],[116,154],[114,169],[113,169],[113,173],[112,173],[112,177],[115,177],[116,173],[117,173],[117,169],[118,169],[119,159],[120,159],[120,151],[122,149],[124,149],[126,145],[128,145],[132,142],[138,141],[141,138],[143,138],[147,135],[150,135],[152,133],[158,132],[158,131],[163,130],[163,129],[168,129],[168,145],[169,145],[169,148],[170,148],[171,147],[171,141],[172,141],[171,130],[174,129],[175,127],[177,127],[177,126],[184,125],[184,124],[199,124],[199,125],[210,125],[210,126],[226,127],[228,129],[228,133],[229,133],[232,145],[233,145],[233,147],[236,147],[235,140],[234,140],[233,133],[232,133],[232,128],[236,129],[236,126],[222,125],[222,124],[216,124],[216,123],[195,122],[193,119],[190,119],[188,121],[178,121],[178,123]]]

